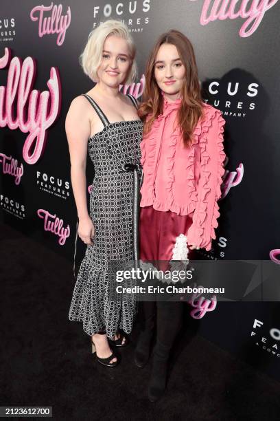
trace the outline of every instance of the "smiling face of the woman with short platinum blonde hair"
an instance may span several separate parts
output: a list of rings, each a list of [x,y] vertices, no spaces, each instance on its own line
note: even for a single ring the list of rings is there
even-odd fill
[[[126,80],[130,65],[128,42],[120,36],[107,36],[102,51],[102,62],[97,69],[99,81],[109,87],[118,87]]]

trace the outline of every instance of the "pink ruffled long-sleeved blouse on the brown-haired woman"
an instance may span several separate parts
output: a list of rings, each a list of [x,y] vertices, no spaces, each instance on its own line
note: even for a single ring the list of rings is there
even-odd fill
[[[204,118],[198,120],[194,142],[186,148],[176,125],[180,103],[181,99],[170,102],[163,96],[163,113],[140,144],[144,174],[140,206],[191,216],[187,243],[211,250],[220,216],[225,121],[220,110],[203,103]]]

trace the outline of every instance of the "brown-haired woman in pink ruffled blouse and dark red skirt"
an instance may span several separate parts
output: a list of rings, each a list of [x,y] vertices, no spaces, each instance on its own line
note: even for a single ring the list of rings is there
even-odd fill
[[[140,257],[187,260],[189,250],[210,250],[215,239],[224,174],[224,119],[221,111],[202,101],[194,48],[177,30],[159,37],[145,80],[139,109],[144,122]],[[135,363],[147,363],[156,324],[148,388],[154,401],[165,390],[167,359],[182,323],[183,303],[147,301],[143,312]]]

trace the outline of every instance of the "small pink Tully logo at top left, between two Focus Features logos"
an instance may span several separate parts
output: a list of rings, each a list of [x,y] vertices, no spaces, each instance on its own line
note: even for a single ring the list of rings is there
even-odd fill
[[[50,17],[43,17],[44,12],[50,12]],[[38,14],[36,15],[36,12]],[[62,45],[65,40],[67,28],[71,22],[71,10],[68,6],[67,14],[62,15],[62,5],[54,5],[51,2],[50,6],[35,6],[30,12],[30,19],[34,22],[38,21],[38,35],[40,38],[44,35],[58,34],[56,39],[57,45]]]

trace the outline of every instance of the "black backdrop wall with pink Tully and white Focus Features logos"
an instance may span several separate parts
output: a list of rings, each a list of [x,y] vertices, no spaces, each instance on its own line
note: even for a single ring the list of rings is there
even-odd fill
[[[73,262],[76,209],[65,116],[71,100],[93,85],[78,63],[89,32],[117,18],[132,32],[139,68],[135,83],[122,91],[141,98],[150,47],[162,32],[178,29],[194,44],[205,101],[226,120],[217,238],[201,257],[279,264],[277,2],[2,0],[1,221]],[[90,192],[90,160],[86,175]],[[78,261],[83,252],[79,240]],[[218,303],[196,323],[198,332],[280,380],[279,310],[277,302]]]

